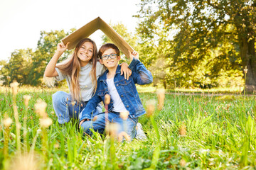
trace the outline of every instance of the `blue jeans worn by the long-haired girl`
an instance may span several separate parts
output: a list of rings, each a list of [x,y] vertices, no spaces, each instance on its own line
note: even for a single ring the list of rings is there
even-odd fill
[[[57,91],[53,94],[53,108],[58,117],[58,123],[68,123],[70,118],[78,119],[79,113],[87,104],[87,101],[80,101],[80,103],[75,103],[75,105],[72,106],[71,102],[71,95],[64,91]],[[102,112],[102,108],[98,105],[97,113],[99,112]]]

